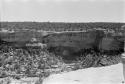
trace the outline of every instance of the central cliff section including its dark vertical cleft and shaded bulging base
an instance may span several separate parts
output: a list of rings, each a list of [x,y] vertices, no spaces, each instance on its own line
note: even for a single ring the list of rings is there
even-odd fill
[[[81,49],[98,49],[104,36],[100,30],[88,32],[63,32],[43,37],[43,42],[50,47],[60,47],[62,55],[71,55]]]

